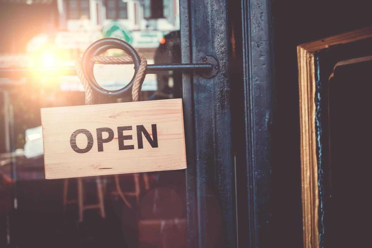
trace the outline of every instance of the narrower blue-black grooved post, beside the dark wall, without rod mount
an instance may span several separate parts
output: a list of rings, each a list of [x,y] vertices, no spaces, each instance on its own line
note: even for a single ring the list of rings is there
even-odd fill
[[[273,28],[271,1],[243,0],[244,85],[250,247],[272,247],[271,146]]]

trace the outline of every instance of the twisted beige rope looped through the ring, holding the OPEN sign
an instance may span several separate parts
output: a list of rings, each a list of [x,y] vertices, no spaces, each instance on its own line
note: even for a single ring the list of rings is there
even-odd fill
[[[145,77],[145,69],[147,66],[147,60],[141,56],[140,58],[141,58],[141,64],[140,64],[140,67],[138,68],[138,72],[136,74],[136,77],[134,78],[134,82],[132,86],[132,101],[133,102],[138,102],[138,100],[140,100],[141,84]],[[130,56],[120,56],[120,57],[119,56],[115,56],[115,57],[93,56],[90,58],[90,61],[98,62],[99,64],[133,64],[133,59]],[[93,94],[92,94],[92,89],[90,88],[90,85],[88,83],[88,80],[83,73],[81,59],[77,59],[75,61],[75,70],[84,87],[85,105],[90,105],[93,102]]]

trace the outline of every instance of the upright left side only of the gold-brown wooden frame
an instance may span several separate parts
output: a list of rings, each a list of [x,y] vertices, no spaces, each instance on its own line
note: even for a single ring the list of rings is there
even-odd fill
[[[318,170],[315,141],[314,55],[297,47],[299,70],[299,109],[301,125],[301,190],[304,247],[319,247]]]

